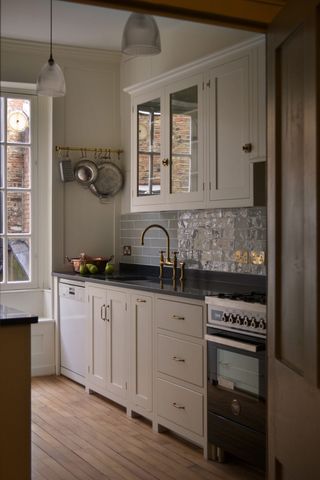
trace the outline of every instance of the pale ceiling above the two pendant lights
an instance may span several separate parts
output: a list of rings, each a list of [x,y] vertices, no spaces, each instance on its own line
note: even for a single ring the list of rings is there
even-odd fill
[[[53,43],[120,51],[130,12],[69,1],[53,1]],[[161,36],[191,22],[155,17]],[[191,26],[191,25],[190,25]],[[193,28],[195,24],[192,24]],[[1,0],[1,36],[49,42],[50,0]],[[198,28],[212,30],[211,25]],[[221,27],[220,27],[221,28]]]

